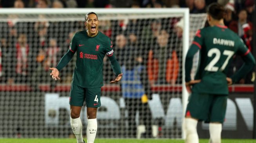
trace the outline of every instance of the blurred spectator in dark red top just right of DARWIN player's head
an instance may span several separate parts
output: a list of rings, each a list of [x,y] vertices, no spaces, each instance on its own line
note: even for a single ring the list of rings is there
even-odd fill
[[[238,34],[238,36],[242,36],[243,33],[243,27],[242,25],[245,23],[249,23],[249,25],[252,27],[252,23],[250,21],[247,21],[247,12],[245,9],[241,9],[238,13],[238,21],[233,20],[229,24],[229,29],[233,30]]]

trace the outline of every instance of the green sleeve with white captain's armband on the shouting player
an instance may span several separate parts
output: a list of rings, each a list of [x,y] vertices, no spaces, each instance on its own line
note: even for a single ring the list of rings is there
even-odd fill
[[[116,60],[116,56],[114,55],[114,50],[113,50],[113,44],[111,39],[108,39],[106,47],[105,47],[105,53],[107,57],[109,58],[109,61],[111,63],[111,67],[115,73],[115,75],[119,75],[121,72],[121,67],[118,61]]]

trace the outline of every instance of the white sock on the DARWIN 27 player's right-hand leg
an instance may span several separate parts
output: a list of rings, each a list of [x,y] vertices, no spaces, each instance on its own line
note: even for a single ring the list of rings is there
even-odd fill
[[[221,134],[222,134],[221,123],[210,123],[209,132],[210,132],[209,143],[221,143]]]

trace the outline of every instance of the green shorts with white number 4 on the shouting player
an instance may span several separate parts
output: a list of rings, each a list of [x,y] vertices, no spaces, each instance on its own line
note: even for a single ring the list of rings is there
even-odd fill
[[[101,88],[82,88],[71,84],[69,104],[73,106],[100,107]]]

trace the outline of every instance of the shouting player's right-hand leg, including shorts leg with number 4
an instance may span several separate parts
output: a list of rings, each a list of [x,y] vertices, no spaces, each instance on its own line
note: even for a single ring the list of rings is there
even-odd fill
[[[87,107],[87,143],[94,143],[97,133],[97,109],[100,107],[101,88],[86,88],[85,102]]]

